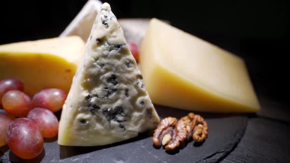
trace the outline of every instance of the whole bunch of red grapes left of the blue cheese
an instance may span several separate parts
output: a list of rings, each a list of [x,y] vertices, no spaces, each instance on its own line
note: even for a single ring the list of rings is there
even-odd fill
[[[22,159],[37,157],[43,150],[43,138],[58,135],[58,118],[67,94],[57,88],[43,89],[32,100],[17,79],[0,81],[0,147],[8,144]],[[2,105],[2,107],[1,107]]]

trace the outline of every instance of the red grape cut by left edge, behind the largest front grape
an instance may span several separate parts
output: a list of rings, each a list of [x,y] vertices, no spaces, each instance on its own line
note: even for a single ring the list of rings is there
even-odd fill
[[[6,133],[8,126],[15,119],[15,117],[8,114],[0,114],[0,147],[7,144]]]

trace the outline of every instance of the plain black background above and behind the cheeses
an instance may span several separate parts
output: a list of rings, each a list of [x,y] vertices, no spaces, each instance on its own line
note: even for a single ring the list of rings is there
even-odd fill
[[[0,44],[56,37],[86,1],[1,0]],[[117,18],[168,20],[243,57],[258,95],[288,104],[287,0],[106,1]]]

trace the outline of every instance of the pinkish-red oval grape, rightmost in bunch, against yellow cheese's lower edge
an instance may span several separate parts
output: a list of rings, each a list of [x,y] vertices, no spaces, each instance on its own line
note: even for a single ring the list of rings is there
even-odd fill
[[[67,94],[58,88],[43,89],[32,98],[33,108],[45,108],[52,112],[60,110],[64,104]]]

